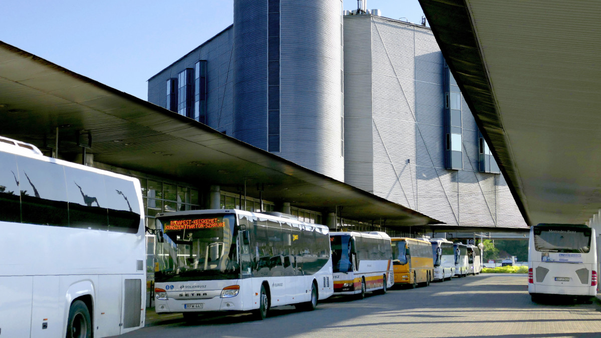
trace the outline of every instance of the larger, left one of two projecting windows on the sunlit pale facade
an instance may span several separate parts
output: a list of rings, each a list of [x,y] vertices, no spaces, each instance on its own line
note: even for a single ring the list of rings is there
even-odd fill
[[[445,63],[445,129],[447,169],[463,169],[462,96],[457,82]]]

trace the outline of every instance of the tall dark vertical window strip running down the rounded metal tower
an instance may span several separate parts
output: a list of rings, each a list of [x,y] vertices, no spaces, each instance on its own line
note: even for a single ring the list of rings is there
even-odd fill
[[[279,0],[267,1],[267,151],[279,152]]]

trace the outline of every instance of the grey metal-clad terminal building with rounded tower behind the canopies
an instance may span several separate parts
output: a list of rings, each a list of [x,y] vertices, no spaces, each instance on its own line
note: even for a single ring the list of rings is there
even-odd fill
[[[449,226],[526,227],[425,25],[236,0],[233,25],[150,78],[148,100]]]

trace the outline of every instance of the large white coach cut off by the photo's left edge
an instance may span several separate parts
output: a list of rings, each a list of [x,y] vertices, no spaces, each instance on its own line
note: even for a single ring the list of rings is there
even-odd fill
[[[144,326],[137,179],[0,138],[1,337],[106,337]]]

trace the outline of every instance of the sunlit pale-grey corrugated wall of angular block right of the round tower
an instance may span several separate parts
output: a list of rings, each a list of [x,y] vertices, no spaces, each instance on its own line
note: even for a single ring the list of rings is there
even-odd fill
[[[371,20],[371,56],[365,55],[367,43],[362,35],[368,30],[367,20]],[[345,121],[347,128],[353,123],[364,126],[369,113],[373,117],[370,178],[374,194],[447,224],[525,226],[502,177],[478,170],[478,129],[465,101],[463,170],[445,169],[444,59],[432,31],[369,15],[347,16],[344,22],[345,35],[359,37],[359,43],[346,43],[344,48]],[[356,69],[360,66],[362,73],[367,72],[368,62],[372,76],[371,83],[365,84]],[[371,92],[371,106],[351,99],[368,99],[366,92]],[[359,118],[364,119],[361,124],[350,121]],[[349,144],[360,144],[365,138],[346,135]],[[359,176],[370,175],[367,165],[353,162],[364,161],[370,152],[359,148],[360,153],[352,154],[357,147],[347,149],[347,173],[358,170],[355,175],[347,174],[346,182],[368,187],[368,179]]]

